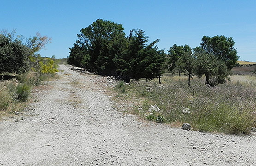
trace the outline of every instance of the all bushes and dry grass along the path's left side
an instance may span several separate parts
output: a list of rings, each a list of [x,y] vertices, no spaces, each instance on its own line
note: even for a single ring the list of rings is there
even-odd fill
[[[48,42],[50,39],[40,33],[25,41],[14,31],[0,33],[0,118],[21,113],[30,101],[31,90],[55,77],[55,57],[36,54]]]

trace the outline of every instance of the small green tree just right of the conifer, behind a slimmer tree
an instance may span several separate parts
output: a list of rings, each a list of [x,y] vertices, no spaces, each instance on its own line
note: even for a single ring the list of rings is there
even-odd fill
[[[168,50],[168,71],[169,72],[173,72],[174,69],[177,69],[179,72],[179,76],[180,73],[183,72],[182,68],[177,66],[177,61],[179,60],[179,57],[185,53],[189,53],[192,54],[192,50],[191,47],[187,44],[183,45],[179,45],[177,46],[176,44],[173,45],[173,47],[171,47]]]

